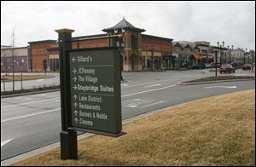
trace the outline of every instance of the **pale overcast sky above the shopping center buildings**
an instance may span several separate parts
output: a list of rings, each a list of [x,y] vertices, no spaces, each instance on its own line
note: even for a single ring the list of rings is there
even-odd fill
[[[72,28],[73,37],[102,33],[125,17],[145,34],[174,41],[217,41],[255,49],[255,2],[4,2],[1,45],[56,39],[55,29]]]

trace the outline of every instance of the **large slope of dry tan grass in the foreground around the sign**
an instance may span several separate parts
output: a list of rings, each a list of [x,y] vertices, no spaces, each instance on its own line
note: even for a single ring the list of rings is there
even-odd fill
[[[170,107],[123,130],[79,141],[79,160],[61,161],[55,149],[15,165],[255,165],[255,89]]]

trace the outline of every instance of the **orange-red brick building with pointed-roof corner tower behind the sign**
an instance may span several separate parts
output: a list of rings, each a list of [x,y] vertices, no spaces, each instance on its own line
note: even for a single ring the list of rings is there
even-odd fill
[[[123,70],[141,71],[172,67],[172,38],[142,34],[144,29],[132,26],[125,18],[115,26],[102,30],[103,34],[73,37],[73,49],[119,46]],[[87,40],[91,37],[106,37],[122,34],[122,37]],[[43,71],[43,60],[48,62],[48,71],[59,70],[59,50],[56,40],[29,42],[32,71]]]

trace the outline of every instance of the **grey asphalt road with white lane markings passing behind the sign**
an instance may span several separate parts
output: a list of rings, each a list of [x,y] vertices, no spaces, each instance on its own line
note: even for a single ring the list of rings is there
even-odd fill
[[[206,70],[124,73],[122,118],[207,96],[255,89],[255,80],[178,85],[185,80],[212,75],[213,72]],[[59,141],[60,108],[59,91],[1,99],[1,161]]]

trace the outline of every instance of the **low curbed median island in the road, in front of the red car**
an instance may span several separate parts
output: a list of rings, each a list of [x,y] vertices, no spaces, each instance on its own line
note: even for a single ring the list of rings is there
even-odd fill
[[[217,77],[207,77],[199,78],[190,81],[184,81],[179,84],[200,84],[200,83],[217,83],[217,82],[230,82],[230,81],[244,81],[244,80],[253,80],[254,76],[217,76]]]

